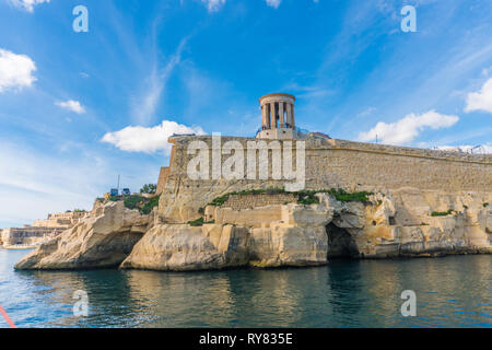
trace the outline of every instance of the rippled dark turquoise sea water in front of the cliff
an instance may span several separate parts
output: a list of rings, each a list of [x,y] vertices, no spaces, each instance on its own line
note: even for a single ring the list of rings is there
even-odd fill
[[[27,253],[0,249],[0,304],[17,327],[492,327],[490,255],[187,273],[14,271]],[[73,315],[78,290],[89,295],[87,317]],[[401,316],[403,290],[417,293],[415,317]]]

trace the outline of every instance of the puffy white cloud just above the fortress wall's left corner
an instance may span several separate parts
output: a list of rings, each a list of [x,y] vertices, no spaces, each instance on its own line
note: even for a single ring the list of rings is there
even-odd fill
[[[175,121],[163,120],[155,127],[126,127],[119,131],[106,133],[101,141],[112,143],[128,152],[154,153],[164,151],[168,154],[171,144],[167,139],[173,133],[204,135],[200,127],[187,127]]]

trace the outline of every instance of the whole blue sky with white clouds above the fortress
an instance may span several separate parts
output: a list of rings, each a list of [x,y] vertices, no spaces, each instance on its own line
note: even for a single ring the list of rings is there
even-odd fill
[[[492,152],[492,1],[0,0],[0,228],[156,183],[174,132],[253,137],[272,92],[332,138]]]

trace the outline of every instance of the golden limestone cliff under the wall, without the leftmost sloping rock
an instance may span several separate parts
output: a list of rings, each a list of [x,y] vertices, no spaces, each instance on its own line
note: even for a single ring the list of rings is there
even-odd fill
[[[149,231],[124,268],[218,269],[314,266],[331,257],[386,258],[491,253],[490,195],[402,188],[368,202],[274,205],[235,211],[207,207],[213,224],[163,224]]]

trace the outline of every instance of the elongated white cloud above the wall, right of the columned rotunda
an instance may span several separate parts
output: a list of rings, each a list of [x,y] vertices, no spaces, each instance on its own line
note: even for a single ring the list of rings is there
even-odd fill
[[[426,128],[449,128],[458,120],[457,116],[446,116],[435,110],[429,110],[422,115],[409,114],[396,122],[379,121],[371,130],[361,132],[359,140],[368,142],[377,138],[383,143],[403,144],[413,141]]]

